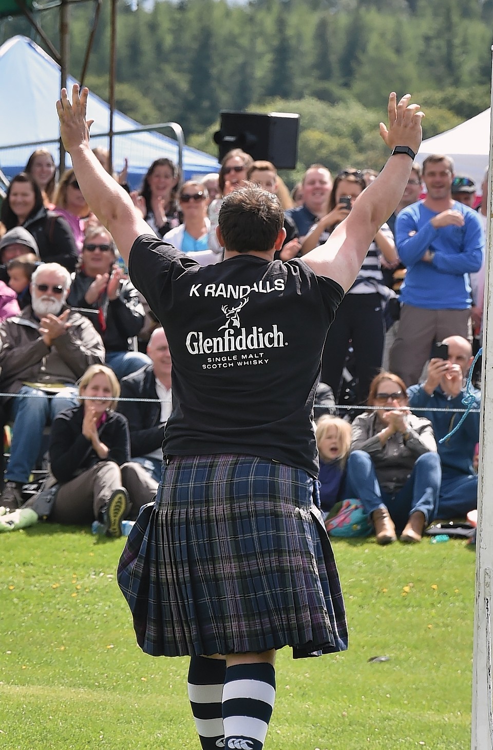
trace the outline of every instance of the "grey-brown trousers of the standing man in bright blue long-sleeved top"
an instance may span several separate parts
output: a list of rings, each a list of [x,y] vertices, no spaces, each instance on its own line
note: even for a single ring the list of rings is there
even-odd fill
[[[402,305],[399,329],[390,350],[390,372],[406,386],[420,382],[434,341],[462,336],[472,341],[471,310],[425,310]]]

